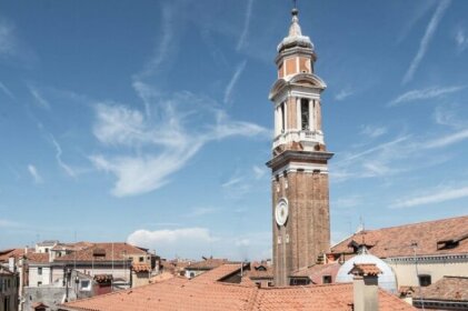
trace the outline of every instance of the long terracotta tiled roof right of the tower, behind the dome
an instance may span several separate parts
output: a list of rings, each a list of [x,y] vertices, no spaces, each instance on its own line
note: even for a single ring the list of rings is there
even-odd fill
[[[352,253],[365,243],[379,258],[468,253],[468,215],[358,232],[332,247],[332,253]]]

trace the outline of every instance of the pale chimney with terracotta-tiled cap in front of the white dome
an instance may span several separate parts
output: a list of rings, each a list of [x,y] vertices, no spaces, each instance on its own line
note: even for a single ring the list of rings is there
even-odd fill
[[[354,274],[354,310],[377,311],[379,310],[379,282],[378,274],[381,271],[375,263],[355,263],[349,271]]]

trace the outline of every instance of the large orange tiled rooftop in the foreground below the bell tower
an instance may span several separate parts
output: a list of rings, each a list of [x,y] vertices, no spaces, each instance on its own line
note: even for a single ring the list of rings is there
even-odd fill
[[[258,289],[217,280],[239,271],[240,264],[225,264],[191,280],[170,280],[67,303],[66,310],[80,311],[328,311],[351,310],[352,284]],[[395,295],[379,292],[379,310],[415,310]]]

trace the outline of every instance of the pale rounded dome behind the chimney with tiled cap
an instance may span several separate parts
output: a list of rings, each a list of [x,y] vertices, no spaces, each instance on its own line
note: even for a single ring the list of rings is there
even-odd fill
[[[337,283],[349,283],[352,282],[352,274],[349,271],[355,267],[355,263],[375,263],[377,268],[382,272],[378,275],[379,288],[396,293],[397,292],[397,278],[395,277],[391,268],[381,259],[372,255],[362,247],[358,255],[347,260],[341,268],[338,270],[336,282]]]

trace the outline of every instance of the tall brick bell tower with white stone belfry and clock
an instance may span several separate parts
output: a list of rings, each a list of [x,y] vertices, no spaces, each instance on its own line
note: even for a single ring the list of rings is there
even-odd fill
[[[317,60],[302,36],[298,10],[289,34],[278,46],[278,79],[269,99],[275,111],[271,169],[273,273],[277,287],[292,272],[316,263],[330,248],[328,160],[321,127],[325,82],[315,74]]]

